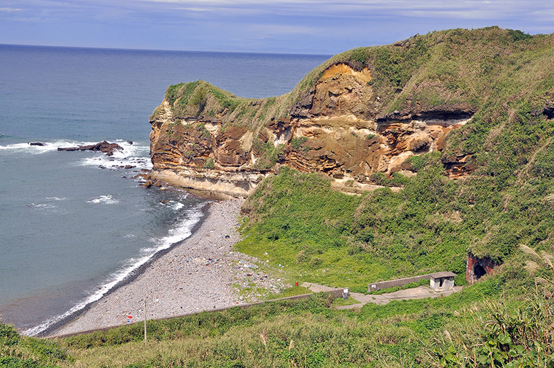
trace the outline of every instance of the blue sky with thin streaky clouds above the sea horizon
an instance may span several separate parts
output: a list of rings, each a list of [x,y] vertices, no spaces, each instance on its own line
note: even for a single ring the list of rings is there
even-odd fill
[[[554,32],[554,1],[0,0],[0,44],[335,54],[416,33]]]

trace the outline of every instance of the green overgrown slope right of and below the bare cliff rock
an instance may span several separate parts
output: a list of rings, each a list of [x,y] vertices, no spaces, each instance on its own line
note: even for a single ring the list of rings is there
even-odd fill
[[[553,249],[553,40],[448,30],[335,56],[328,63],[374,69],[388,109],[409,111],[418,101],[430,111],[429,101],[440,100],[443,109],[471,105],[474,118],[449,134],[442,153],[411,157],[418,175],[390,179],[404,185],[398,193],[352,198],[324,177],[292,170],[266,179],[245,204],[248,236],[239,249],[286,264],[292,279],[360,291],[379,279],[446,270],[464,283],[467,250],[503,263],[520,243]],[[476,171],[448,179],[452,155],[471,155]]]

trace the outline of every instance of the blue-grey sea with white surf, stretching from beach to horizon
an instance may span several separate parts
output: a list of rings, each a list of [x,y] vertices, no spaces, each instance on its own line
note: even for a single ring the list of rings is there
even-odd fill
[[[46,330],[202,220],[208,201],[136,177],[169,85],[278,96],[329,57],[0,45],[0,322]],[[123,151],[57,150],[103,140]]]

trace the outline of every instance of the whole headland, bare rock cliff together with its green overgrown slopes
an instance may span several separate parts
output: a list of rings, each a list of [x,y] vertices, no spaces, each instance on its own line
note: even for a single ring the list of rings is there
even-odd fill
[[[276,249],[306,281],[462,274],[468,249],[500,264],[519,243],[551,246],[553,46],[445,30],[335,55],[284,96],[170,86],[150,118],[151,175],[250,195],[239,248]]]

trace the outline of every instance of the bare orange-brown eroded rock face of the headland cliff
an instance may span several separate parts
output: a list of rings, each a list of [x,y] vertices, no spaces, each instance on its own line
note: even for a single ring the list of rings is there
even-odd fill
[[[289,166],[325,173],[334,188],[362,193],[379,187],[375,173],[415,175],[406,159],[443,150],[448,132],[471,119],[465,105],[424,110],[415,103],[386,113],[371,80],[368,69],[334,64],[286,114],[262,124],[234,124],[238,114],[228,107],[202,114],[212,98],[204,92],[195,114],[177,116],[166,99],[150,120],[151,176],[203,195],[245,197],[265,175]],[[244,104],[256,115],[267,101]],[[473,170],[471,160],[449,157],[445,167],[459,177]]]

